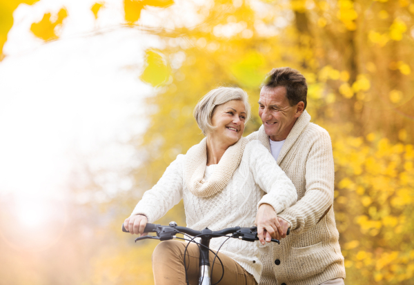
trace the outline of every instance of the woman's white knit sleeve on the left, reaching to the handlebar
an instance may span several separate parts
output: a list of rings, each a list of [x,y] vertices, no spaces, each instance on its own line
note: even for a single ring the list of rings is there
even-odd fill
[[[146,215],[148,223],[163,217],[183,197],[184,155],[178,155],[161,179],[146,191],[131,215]]]

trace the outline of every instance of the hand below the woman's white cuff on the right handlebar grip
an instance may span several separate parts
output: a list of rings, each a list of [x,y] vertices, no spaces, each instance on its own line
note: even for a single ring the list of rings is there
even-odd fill
[[[283,235],[282,226],[279,224],[275,209],[269,204],[260,205],[255,225],[257,226],[257,237],[259,237],[262,244],[264,244],[265,238],[266,242],[270,242],[271,238],[279,239]]]

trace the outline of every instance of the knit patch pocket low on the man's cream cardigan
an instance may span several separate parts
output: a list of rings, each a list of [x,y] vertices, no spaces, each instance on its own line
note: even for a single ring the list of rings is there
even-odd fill
[[[295,268],[294,279],[301,280],[322,273],[331,263],[331,257],[322,242],[302,248],[290,248],[290,268]]]

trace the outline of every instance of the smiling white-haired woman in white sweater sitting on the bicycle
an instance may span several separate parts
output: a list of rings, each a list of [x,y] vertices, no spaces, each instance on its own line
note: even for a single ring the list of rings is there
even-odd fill
[[[250,116],[244,90],[211,90],[199,101],[194,115],[206,137],[186,155],[178,155],[158,183],[146,191],[124,222],[130,233],[143,234],[146,223],[155,222],[181,199],[187,226],[195,230],[250,227],[260,204],[270,204],[279,213],[296,201],[295,186],[268,150],[259,141],[242,137]],[[226,237],[211,239],[210,248],[218,250],[224,240]],[[186,284],[185,247],[186,242],[170,240],[155,248],[152,270],[156,285]],[[262,271],[257,255],[255,243],[229,239],[218,254],[224,264],[220,284],[257,284]],[[199,248],[192,243],[186,254],[190,284],[198,284],[198,258]],[[213,284],[221,270],[214,266]]]

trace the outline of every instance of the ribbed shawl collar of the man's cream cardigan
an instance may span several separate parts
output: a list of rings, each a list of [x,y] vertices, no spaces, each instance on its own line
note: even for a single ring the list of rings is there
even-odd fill
[[[286,140],[282,146],[282,149],[280,150],[279,157],[277,157],[277,164],[280,164],[282,160],[284,159],[286,153],[290,150],[290,148],[295,144],[295,141],[297,140],[297,137],[302,133],[302,131],[308,126],[309,121],[311,121],[311,115],[304,110],[302,112],[302,115],[300,115],[299,118],[297,118],[295,125],[293,125],[292,130],[290,130],[288,137],[286,137]],[[266,135],[266,132],[264,132],[264,126],[262,125],[259,128],[259,131],[257,133],[257,139],[262,142],[264,146],[270,151],[270,141],[268,135]]]

